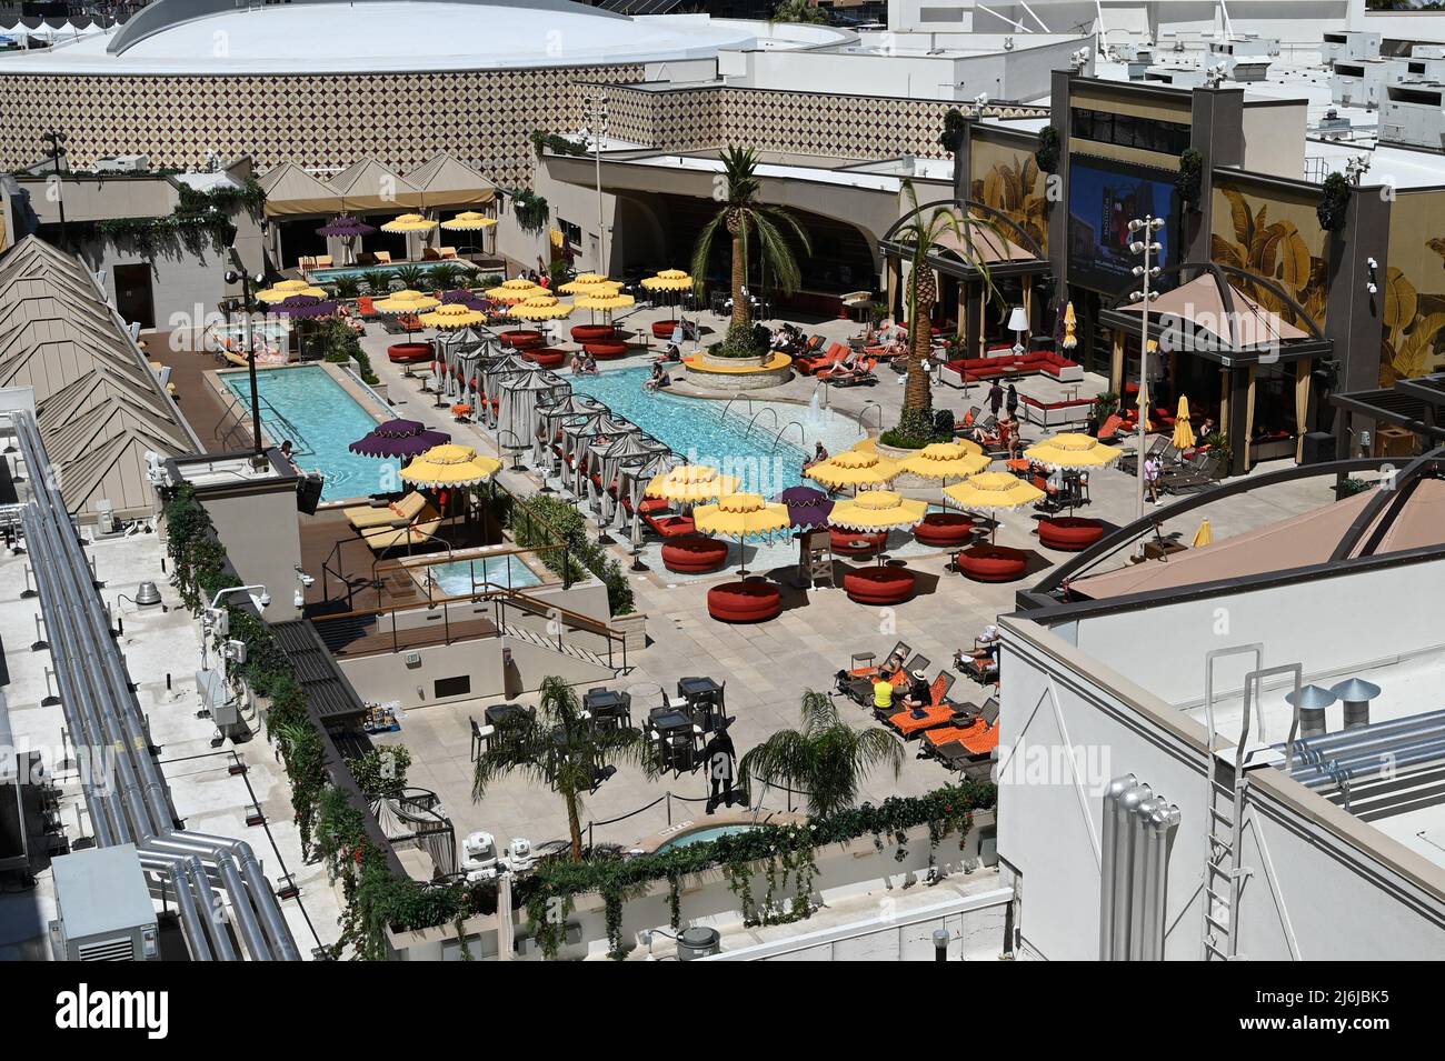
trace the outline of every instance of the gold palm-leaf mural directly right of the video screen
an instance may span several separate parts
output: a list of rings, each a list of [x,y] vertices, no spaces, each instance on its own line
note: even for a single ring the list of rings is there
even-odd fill
[[[1303,199],[1247,198],[1238,189],[1218,185],[1214,193],[1209,258],[1273,280],[1324,328],[1328,243],[1314,204]],[[1266,284],[1240,281],[1240,286],[1246,289],[1246,294],[1289,323],[1303,323],[1293,306]]]

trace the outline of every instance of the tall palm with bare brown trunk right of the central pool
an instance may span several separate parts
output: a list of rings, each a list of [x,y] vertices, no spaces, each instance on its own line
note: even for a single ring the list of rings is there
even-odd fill
[[[933,305],[938,302],[938,277],[929,264],[929,257],[938,247],[944,235],[957,237],[968,250],[968,257],[983,277],[985,287],[984,299],[993,296],[993,280],[988,276],[988,264],[983,254],[977,254],[974,237],[978,231],[988,231],[997,235],[997,227],[984,218],[971,214],[959,215],[949,206],[938,206],[932,214],[925,214],[918,205],[918,192],[913,182],[903,182],[903,193],[907,196],[907,219],[897,231],[897,241],[910,244],[913,257],[909,261],[907,277],[907,385],[903,388],[903,411],[899,424],[913,429],[922,435],[932,432],[931,411],[933,409],[933,394],[929,387],[928,359],[932,352]]]

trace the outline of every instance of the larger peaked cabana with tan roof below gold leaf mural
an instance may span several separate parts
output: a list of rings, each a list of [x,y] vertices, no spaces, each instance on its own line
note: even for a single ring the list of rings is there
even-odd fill
[[[1188,396],[1228,440],[1231,475],[1259,460],[1300,459],[1316,406],[1312,372],[1334,352],[1315,319],[1273,280],[1233,266],[1173,266],[1159,284],[1168,290],[1150,299],[1149,339],[1169,368],[1149,375],[1169,384],[1168,393],[1150,384],[1152,413]],[[1110,390],[1124,396],[1124,410],[1137,403],[1142,313],[1126,290],[1098,315],[1113,336]]]

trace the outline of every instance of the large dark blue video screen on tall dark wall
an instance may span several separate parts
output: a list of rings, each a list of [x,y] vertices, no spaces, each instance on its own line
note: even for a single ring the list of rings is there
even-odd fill
[[[1104,294],[1123,292],[1134,280],[1134,266],[1143,264],[1139,254],[1129,251],[1129,222],[1144,215],[1165,218],[1156,237],[1162,245],[1157,264],[1178,264],[1175,179],[1162,169],[1075,154],[1069,160],[1069,283]],[[1157,290],[1163,290],[1172,277],[1159,280]]]

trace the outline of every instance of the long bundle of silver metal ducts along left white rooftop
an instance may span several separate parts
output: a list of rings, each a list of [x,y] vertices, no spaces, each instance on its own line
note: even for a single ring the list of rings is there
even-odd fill
[[[165,876],[194,960],[238,957],[225,931],[225,905],[215,886],[230,901],[247,957],[299,960],[276,894],[250,844],[176,829],[171,793],[150,754],[140,703],[49,473],[39,430],[27,413],[14,414],[13,422],[36,491],[25,507],[23,525],[61,707],[77,745],[114,751],[110,784],[97,780],[94,771],[82,778],[97,842],[134,843],[142,865]]]

